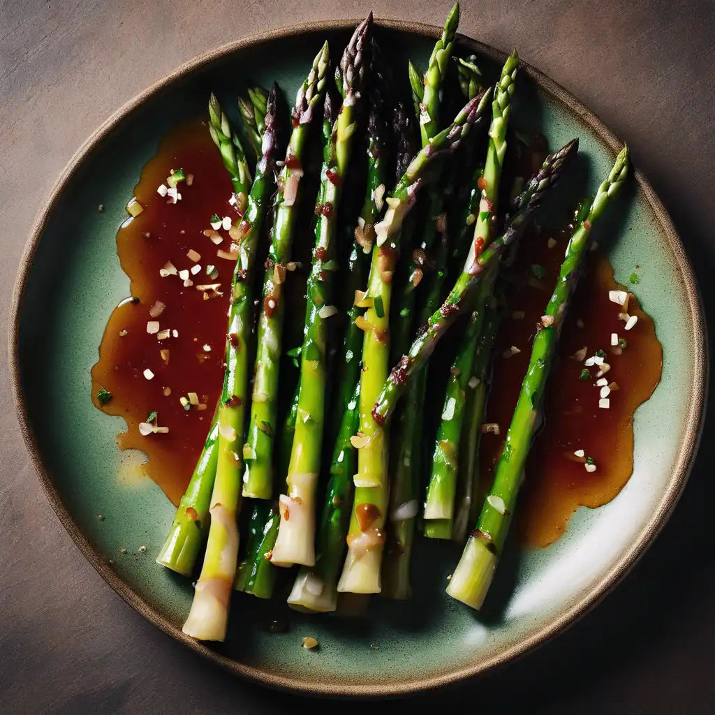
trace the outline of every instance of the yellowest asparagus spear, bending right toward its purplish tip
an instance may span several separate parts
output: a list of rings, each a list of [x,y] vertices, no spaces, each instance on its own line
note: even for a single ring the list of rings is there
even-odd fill
[[[347,537],[347,558],[338,591],[379,593],[383,528],[388,506],[387,440],[384,424],[370,415],[380,385],[388,374],[390,287],[400,251],[400,230],[413,207],[420,186],[433,177],[429,169],[453,152],[473,125],[483,119],[487,93],[475,97],[453,124],[432,139],[410,162],[388,197],[388,209],[375,226],[375,248],[365,299],[370,302],[363,319],[363,373],[360,376],[360,433],[352,438],[358,448],[355,501]]]

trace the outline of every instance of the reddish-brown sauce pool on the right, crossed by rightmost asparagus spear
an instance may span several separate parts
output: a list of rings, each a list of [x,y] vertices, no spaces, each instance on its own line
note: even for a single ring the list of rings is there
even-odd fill
[[[568,232],[553,235],[556,246],[547,247],[550,235],[526,237],[513,266],[515,281],[508,295],[509,312],[502,322],[495,347],[493,385],[486,421],[497,423],[500,435],[482,438],[481,470],[485,486],[503,446],[521,380],[526,373],[536,325],[546,310],[551,290],[563,260]],[[631,330],[618,318],[621,307],[608,298],[609,290],[628,290],[613,278],[613,268],[601,250],[587,258],[587,271],[578,283],[558,343],[558,360],[544,398],[544,426],[534,441],[526,465],[517,529],[529,546],[548,546],[561,536],[579,506],[596,508],[611,501],[633,471],[633,413],[653,393],[661,378],[662,347],[653,320],[631,295],[628,314],[637,315]],[[536,281],[531,265],[541,265],[546,274]],[[528,278],[531,280],[528,280]],[[536,283],[542,287],[536,287]],[[524,313],[515,319],[513,311]],[[583,327],[581,327],[581,325]],[[620,355],[613,354],[611,333],[625,338]],[[511,346],[521,352],[503,357]],[[608,395],[610,407],[598,406],[600,389],[596,373],[579,380],[583,360],[572,356],[588,347],[587,358],[597,350],[606,352],[611,365],[604,378],[618,390]],[[618,352],[618,350],[616,350]],[[593,458],[596,471],[589,473],[574,452],[583,450]]]

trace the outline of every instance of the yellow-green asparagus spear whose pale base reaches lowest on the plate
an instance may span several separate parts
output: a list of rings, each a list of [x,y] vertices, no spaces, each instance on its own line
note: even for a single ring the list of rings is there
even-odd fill
[[[226,338],[226,370],[218,408],[219,427],[216,478],[211,495],[211,527],[201,576],[184,633],[202,641],[223,641],[226,636],[231,591],[236,576],[239,533],[236,523],[241,501],[241,445],[248,400],[248,342],[252,329],[251,273],[258,240],[273,190],[276,149],[274,84],[267,99],[261,159],[248,196],[247,209],[234,240],[239,258],[231,286],[231,307]]]

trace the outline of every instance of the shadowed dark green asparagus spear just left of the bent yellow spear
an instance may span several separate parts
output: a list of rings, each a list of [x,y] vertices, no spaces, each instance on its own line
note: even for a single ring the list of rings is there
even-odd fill
[[[373,71],[379,71],[378,54],[373,40]],[[405,117],[405,114],[400,114]],[[399,117],[397,118],[399,120]],[[395,123],[407,131],[403,120]],[[387,166],[385,163],[386,134],[388,127],[383,116],[383,93],[379,83],[373,84],[370,94],[368,117],[368,183],[365,191],[358,227],[355,228],[355,243],[349,259],[351,300],[355,291],[365,285],[370,248],[375,241],[374,224],[380,213],[378,200],[385,188]],[[404,163],[408,144],[398,150],[398,166]],[[403,170],[404,172],[404,170]],[[380,187],[382,187],[380,189]],[[342,373],[340,374],[340,405],[342,417],[337,439],[332,451],[330,480],[322,508],[320,529],[317,536],[315,566],[300,569],[288,598],[288,604],[299,611],[335,611],[337,606],[337,577],[345,551],[345,536],[350,521],[352,506],[352,475],[358,468],[358,451],[350,439],[360,428],[360,353],[363,346],[363,331],[355,325],[362,317],[364,308],[352,305],[347,312],[350,322],[342,343]]]

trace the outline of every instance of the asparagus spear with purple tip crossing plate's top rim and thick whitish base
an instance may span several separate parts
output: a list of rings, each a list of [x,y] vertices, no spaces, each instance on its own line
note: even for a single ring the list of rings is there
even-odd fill
[[[372,14],[358,25],[340,62],[342,96],[337,113],[330,93],[325,97],[323,132],[325,157],[316,212],[315,250],[307,280],[305,339],[300,356],[300,394],[287,475],[287,495],[280,495],[280,528],[271,557],[275,566],[315,565],[315,489],[320,474],[325,430],[327,330],[337,307],[330,305],[335,270],[335,228],[340,187],[352,153],[355,113],[365,74],[365,49],[370,47]],[[333,123],[335,122],[335,123]]]

